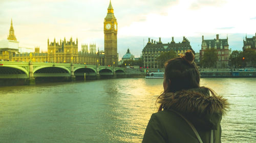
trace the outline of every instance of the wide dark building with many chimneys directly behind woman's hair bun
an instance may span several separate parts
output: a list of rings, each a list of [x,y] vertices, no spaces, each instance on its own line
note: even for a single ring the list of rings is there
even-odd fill
[[[161,37],[159,37],[158,42],[153,41],[153,39],[151,41],[151,39],[148,38],[148,42],[142,50],[144,68],[158,68],[158,57],[170,50],[175,51],[177,56],[184,54],[187,50],[192,50],[194,52],[190,42],[185,37],[183,37],[183,41],[179,43],[176,43],[174,37],[172,37],[172,41],[165,44],[161,42]]]

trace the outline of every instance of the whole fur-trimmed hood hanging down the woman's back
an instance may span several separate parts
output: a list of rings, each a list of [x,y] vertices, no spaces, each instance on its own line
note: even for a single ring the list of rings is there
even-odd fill
[[[212,93],[205,87],[164,93],[158,100],[164,109],[182,113],[197,128],[217,129],[222,115],[228,109],[227,99]]]

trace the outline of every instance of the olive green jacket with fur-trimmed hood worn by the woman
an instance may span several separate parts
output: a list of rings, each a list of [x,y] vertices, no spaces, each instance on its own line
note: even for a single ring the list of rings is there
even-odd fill
[[[204,143],[210,142],[210,130],[214,130],[214,142],[221,142],[221,119],[228,108],[226,99],[209,96],[208,89],[185,90],[166,93],[160,98],[164,110],[153,113],[142,142],[199,142],[188,123],[197,129]]]

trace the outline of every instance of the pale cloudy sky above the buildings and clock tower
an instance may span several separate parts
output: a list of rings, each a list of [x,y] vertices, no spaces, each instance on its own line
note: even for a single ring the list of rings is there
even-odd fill
[[[103,21],[110,0],[0,0],[0,40],[7,39],[11,19],[20,47],[39,46],[47,39],[96,43],[104,50]],[[139,57],[148,38],[168,43],[183,36],[199,52],[204,39],[228,36],[229,48],[242,50],[243,39],[255,36],[255,0],[112,0],[118,22],[119,59],[130,52]]]

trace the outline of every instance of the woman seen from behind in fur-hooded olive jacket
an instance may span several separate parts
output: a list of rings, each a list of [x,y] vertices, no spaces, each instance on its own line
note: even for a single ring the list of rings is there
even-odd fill
[[[164,92],[157,113],[147,124],[142,142],[221,142],[221,119],[227,100],[200,87],[191,50],[165,63]],[[211,95],[210,95],[211,93]]]

